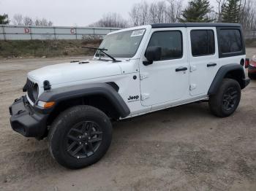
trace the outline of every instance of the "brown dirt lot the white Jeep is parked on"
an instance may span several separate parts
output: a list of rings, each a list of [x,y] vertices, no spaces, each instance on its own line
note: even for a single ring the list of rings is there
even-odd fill
[[[50,157],[46,140],[26,139],[9,123],[8,106],[23,95],[26,73],[61,62],[0,61],[0,190],[256,190],[256,82],[225,119],[202,103],[115,123],[107,155],[71,171]]]

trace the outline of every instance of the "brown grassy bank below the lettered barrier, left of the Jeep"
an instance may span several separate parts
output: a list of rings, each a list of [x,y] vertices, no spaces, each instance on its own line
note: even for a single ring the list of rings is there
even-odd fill
[[[94,55],[94,50],[81,46],[99,47],[101,39],[84,40],[13,40],[0,41],[0,57],[61,57],[73,55]]]

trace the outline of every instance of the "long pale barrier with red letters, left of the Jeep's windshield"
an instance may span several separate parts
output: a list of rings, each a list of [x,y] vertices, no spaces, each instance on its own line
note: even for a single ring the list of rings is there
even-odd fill
[[[103,37],[119,29],[121,28],[0,25],[0,40],[85,39],[91,35]]]

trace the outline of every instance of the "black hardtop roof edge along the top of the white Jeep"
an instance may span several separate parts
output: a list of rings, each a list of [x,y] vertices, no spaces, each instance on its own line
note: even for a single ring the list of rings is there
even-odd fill
[[[151,24],[152,28],[171,27],[241,27],[238,23],[157,23]]]

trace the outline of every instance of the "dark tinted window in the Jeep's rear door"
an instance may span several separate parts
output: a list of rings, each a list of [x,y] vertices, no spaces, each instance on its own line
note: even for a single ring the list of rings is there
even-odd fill
[[[215,53],[214,31],[193,30],[190,32],[193,56],[213,55]]]

